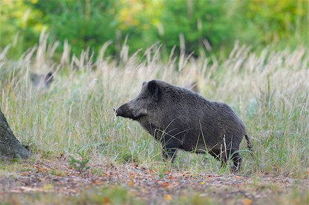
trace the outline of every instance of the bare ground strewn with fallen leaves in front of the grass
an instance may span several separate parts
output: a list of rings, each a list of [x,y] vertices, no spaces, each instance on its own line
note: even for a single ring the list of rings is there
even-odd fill
[[[97,163],[90,167],[87,171],[76,171],[69,167],[67,160],[26,162],[18,171],[0,172],[0,199],[8,204],[27,204],[23,200],[13,200],[13,203],[12,199],[34,193],[78,196],[87,189],[122,186],[146,204],[169,204],[174,199],[192,195],[209,197],[216,204],[273,204],[278,200],[284,202],[293,190],[301,193],[301,200],[288,204],[308,202],[307,176],[219,176],[175,169],[160,173],[135,163]]]

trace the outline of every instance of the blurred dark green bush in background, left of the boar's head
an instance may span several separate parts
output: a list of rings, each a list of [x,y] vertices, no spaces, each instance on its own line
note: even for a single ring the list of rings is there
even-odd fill
[[[113,0],[38,1],[27,5],[43,13],[54,40],[65,40],[73,53],[91,47],[98,51],[107,40],[115,40],[117,8]],[[115,50],[113,50],[115,52]]]

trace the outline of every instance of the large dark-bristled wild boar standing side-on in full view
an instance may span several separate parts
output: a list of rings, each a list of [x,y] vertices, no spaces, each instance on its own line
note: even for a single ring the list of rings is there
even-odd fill
[[[177,149],[208,152],[222,165],[233,160],[233,171],[238,171],[243,136],[251,150],[244,123],[227,104],[161,80],[144,82],[139,95],[115,114],[138,121],[162,143],[164,158],[172,162]]]

